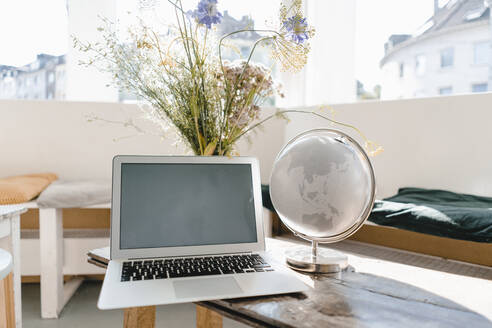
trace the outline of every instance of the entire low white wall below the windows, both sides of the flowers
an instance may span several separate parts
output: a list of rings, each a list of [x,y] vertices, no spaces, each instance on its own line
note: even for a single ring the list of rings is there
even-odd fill
[[[373,158],[378,197],[399,187],[443,188],[492,196],[492,93],[425,99],[373,101],[333,106],[335,118],[359,127],[385,151]],[[182,154],[172,139],[135,134],[121,125],[92,122],[84,115],[125,121],[140,115],[135,105],[58,101],[0,101],[0,177],[51,171],[62,178],[109,178],[116,154]],[[282,145],[315,127],[333,127],[292,114],[258,131],[241,155],[260,159],[262,180]],[[142,120],[140,126],[147,126]],[[335,126],[335,128],[339,128]],[[353,131],[343,129],[361,138]]]

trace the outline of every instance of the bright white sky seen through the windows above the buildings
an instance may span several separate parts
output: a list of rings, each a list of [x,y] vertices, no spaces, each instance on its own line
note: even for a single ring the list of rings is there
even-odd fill
[[[197,1],[183,0],[185,9],[192,9]],[[379,61],[388,37],[413,33],[432,15],[433,0],[356,1],[356,78],[370,90],[380,80]],[[166,9],[163,12],[170,13],[167,1],[160,2]],[[134,11],[138,0],[117,3],[122,13]],[[277,6],[278,1],[272,0],[219,0],[220,11],[227,9],[236,18],[250,14],[257,28],[277,15]],[[0,12],[0,65],[20,66],[41,52],[59,55],[67,51],[65,0],[1,0]]]

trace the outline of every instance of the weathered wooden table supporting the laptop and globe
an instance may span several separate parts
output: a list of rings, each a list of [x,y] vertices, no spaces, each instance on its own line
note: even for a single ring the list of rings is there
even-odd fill
[[[267,239],[283,262],[292,241]],[[492,327],[492,282],[349,254],[336,275],[296,273],[306,293],[197,303],[197,327],[222,317],[252,327]],[[125,327],[154,327],[155,307],[125,310]]]

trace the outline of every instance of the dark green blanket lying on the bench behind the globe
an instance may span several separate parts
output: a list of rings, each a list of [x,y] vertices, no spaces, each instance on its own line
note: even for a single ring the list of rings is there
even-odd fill
[[[369,220],[440,237],[492,242],[492,198],[445,190],[401,188],[376,201]]]

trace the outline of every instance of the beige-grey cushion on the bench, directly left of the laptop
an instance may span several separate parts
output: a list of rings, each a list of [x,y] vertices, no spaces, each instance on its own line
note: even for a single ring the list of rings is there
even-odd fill
[[[36,200],[39,208],[78,208],[111,202],[109,180],[58,180]]]

